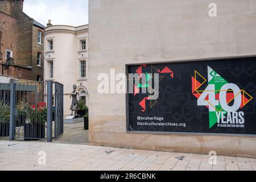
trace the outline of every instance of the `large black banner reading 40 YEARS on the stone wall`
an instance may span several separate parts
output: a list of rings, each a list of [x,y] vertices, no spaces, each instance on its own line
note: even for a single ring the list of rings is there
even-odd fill
[[[129,131],[256,135],[256,57],[128,72]]]

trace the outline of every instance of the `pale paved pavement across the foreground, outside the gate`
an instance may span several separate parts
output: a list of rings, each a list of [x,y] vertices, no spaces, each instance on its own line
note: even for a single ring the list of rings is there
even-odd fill
[[[38,164],[39,151],[46,152],[46,165]],[[0,170],[256,170],[256,159],[217,156],[217,165],[208,160],[208,155],[0,140]]]

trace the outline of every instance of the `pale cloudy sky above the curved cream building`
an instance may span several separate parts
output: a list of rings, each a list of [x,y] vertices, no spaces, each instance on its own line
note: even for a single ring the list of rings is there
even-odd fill
[[[25,0],[23,11],[44,26],[48,19],[52,24],[88,24],[88,0]]]

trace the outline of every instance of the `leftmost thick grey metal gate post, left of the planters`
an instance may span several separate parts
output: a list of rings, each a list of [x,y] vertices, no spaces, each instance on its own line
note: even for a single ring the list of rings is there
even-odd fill
[[[10,127],[9,127],[9,140],[14,140],[15,135],[15,115],[16,115],[16,107],[15,107],[15,98],[16,98],[16,83],[10,83]]]

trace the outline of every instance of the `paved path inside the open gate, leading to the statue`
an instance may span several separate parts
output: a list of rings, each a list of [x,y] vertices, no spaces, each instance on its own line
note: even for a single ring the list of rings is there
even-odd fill
[[[84,123],[64,124],[64,134],[55,143],[89,144],[88,130],[84,130]]]

